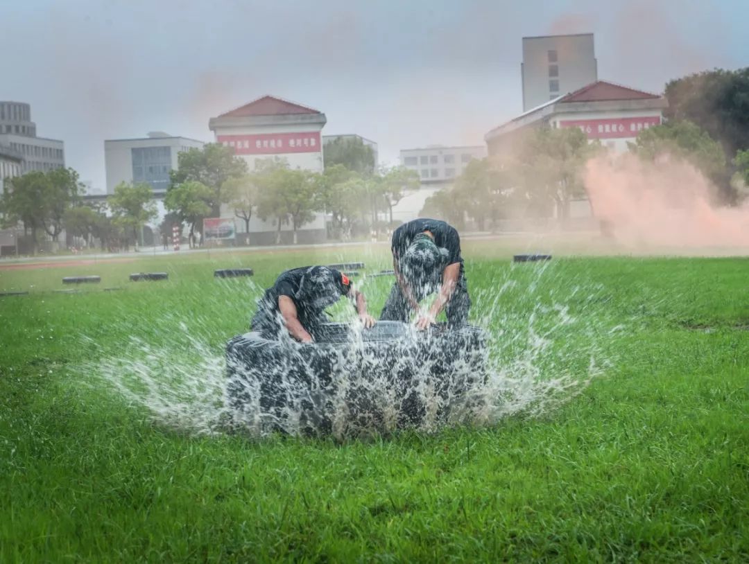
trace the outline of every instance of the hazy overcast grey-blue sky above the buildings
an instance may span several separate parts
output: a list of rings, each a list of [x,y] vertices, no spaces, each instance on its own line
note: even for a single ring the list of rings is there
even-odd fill
[[[521,112],[521,37],[595,34],[598,78],[749,65],[749,0],[0,0],[0,99],[104,188],[103,140],[166,131],[272,94],[327,115],[324,134],[398,150],[482,144]]]

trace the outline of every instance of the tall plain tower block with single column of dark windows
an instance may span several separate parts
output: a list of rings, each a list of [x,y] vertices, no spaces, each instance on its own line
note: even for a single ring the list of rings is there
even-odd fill
[[[598,80],[593,34],[523,37],[523,111]]]

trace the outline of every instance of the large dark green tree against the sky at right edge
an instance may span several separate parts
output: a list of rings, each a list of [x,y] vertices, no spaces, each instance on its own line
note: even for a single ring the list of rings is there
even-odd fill
[[[670,122],[688,120],[718,141],[725,159],[749,149],[749,67],[709,70],[666,85]]]

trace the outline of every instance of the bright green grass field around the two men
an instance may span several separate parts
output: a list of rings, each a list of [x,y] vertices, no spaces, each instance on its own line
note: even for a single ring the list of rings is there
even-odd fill
[[[371,272],[386,247],[0,269],[30,292],[0,298],[0,562],[748,561],[749,260],[464,256],[472,319],[530,401],[344,441],[205,435],[110,384],[216,378],[195,367],[282,269]],[[255,277],[214,280],[231,266]],[[375,313],[390,282],[362,284]]]

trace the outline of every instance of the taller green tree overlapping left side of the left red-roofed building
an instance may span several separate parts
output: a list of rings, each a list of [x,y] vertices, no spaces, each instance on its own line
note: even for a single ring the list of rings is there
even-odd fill
[[[247,163],[234,155],[234,149],[218,143],[208,143],[200,149],[191,147],[178,154],[177,162],[178,170],[169,173],[169,190],[189,180],[207,186],[212,194],[209,203],[212,217],[219,217],[221,204],[229,201],[224,183],[247,173]]]

